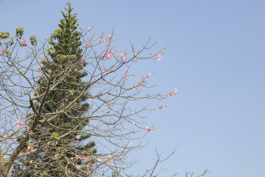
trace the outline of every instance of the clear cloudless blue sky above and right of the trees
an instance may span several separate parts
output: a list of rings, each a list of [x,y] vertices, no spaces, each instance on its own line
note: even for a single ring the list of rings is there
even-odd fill
[[[0,0],[0,31],[23,27],[48,38],[62,18],[64,0]],[[264,177],[265,174],[265,0],[71,0],[83,28],[99,35],[114,27],[120,49],[140,47],[149,37],[157,52],[173,43],[158,62],[135,73],[156,71],[162,93],[177,88],[169,106],[147,113],[146,148],[135,151],[134,172],[162,157],[160,177],[185,170],[207,177]],[[123,48],[122,48],[123,47]],[[145,73],[146,74],[146,73]],[[139,74],[140,75],[140,74]],[[136,170],[135,170],[136,169]]]

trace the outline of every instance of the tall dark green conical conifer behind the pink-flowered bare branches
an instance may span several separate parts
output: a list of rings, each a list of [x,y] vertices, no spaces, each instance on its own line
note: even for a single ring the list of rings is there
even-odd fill
[[[62,12],[59,29],[50,37],[49,57],[40,61],[42,77],[38,79],[39,88],[35,91],[35,95],[44,95],[34,103],[40,114],[39,120],[57,118],[40,124],[32,132],[24,150],[30,153],[25,163],[30,159],[38,163],[16,164],[18,177],[32,177],[33,174],[65,177],[66,173],[73,177],[83,176],[84,170],[78,170],[78,166],[87,164],[89,170],[95,163],[92,157],[96,153],[95,142],[88,141],[91,135],[81,133],[89,123],[89,118],[84,118],[90,107],[86,102],[89,83],[82,80],[87,75],[83,70],[87,62],[82,59],[81,33],[76,30],[77,13],[72,14],[72,4],[67,5],[66,13]]]

